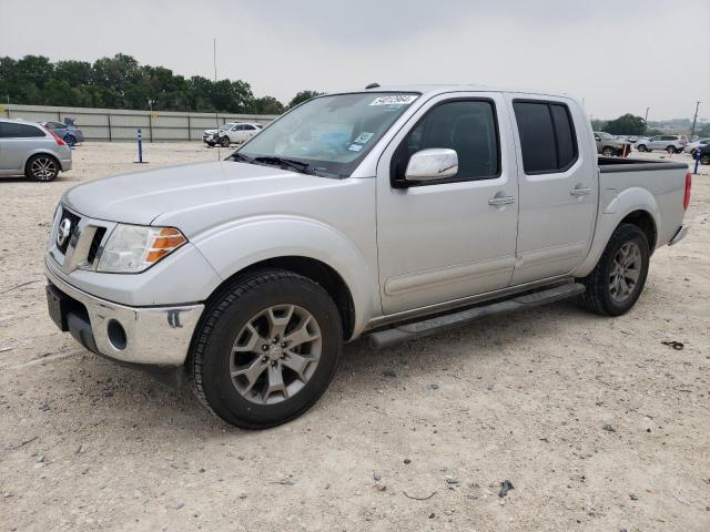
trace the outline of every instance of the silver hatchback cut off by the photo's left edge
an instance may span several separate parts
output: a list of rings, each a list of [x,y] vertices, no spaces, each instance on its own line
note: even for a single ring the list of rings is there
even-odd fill
[[[52,181],[71,170],[71,149],[52,130],[23,120],[0,119],[0,175]]]

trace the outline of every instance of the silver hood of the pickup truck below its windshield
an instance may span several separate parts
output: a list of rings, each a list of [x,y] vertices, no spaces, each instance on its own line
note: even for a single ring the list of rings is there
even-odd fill
[[[248,205],[251,200],[307,193],[339,182],[272,166],[219,161],[97,180],[68,191],[62,203],[98,219],[149,225],[160,217],[161,223],[168,219],[178,225],[181,214],[194,218],[213,205]],[[195,221],[190,219],[189,225],[194,227]]]

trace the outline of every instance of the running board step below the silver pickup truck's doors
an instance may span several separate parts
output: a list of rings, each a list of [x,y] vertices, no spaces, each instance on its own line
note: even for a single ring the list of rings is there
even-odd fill
[[[476,321],[486,316],[511,313],[526,308],[537,307],[547,303],[559,301],[569,297],[584,294],[585,286],[579,283],[570,283],[556,286],[547,290],[535,291],[521,296],[511,297],[498,303],[468,308],[454,314],[446,314],[436,318],[424,319],[406,325],[398,325],[389,329],[383,329],[367,335],[369,345],[374,348],[389,347],[400,341],[414,340],[424,336],[434,335],[445,329],[460,327]]]

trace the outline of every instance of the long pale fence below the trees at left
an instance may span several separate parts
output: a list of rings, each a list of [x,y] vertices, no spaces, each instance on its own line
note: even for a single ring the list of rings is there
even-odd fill
[[[0,116],[32,122],[75,119],[87,141],[132,141],[138,129],[146,142],[201,141],[203,130],[226,122],[267,124],[272,114],[180,113],[171,111],[133,111],[121,109],[59,108],[44,105],[0,104]]]

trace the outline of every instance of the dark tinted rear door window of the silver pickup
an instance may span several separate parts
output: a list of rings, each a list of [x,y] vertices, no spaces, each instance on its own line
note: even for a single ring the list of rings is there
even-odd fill
[[[577,137],[567,105],[517,101],[513,108],[526,174],[565,172],[577,161]]]

